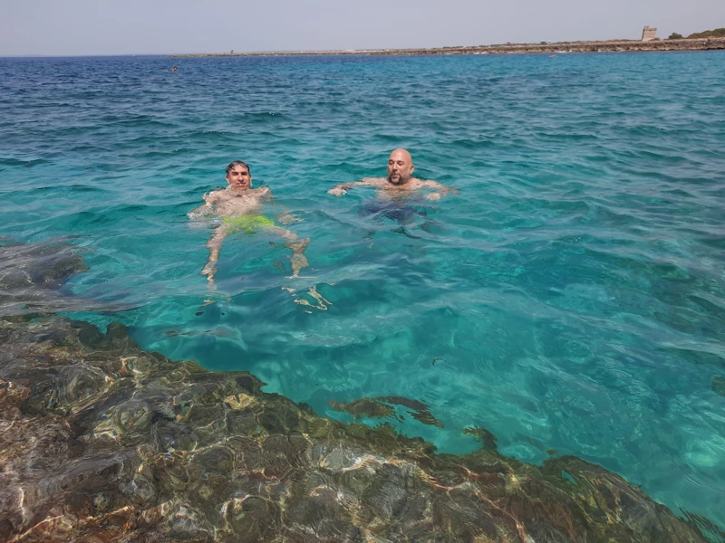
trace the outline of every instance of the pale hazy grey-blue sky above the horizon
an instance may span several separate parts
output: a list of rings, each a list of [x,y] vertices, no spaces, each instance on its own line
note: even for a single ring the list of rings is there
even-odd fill
[[[725,27],[725,0],[0,0],[0,56],[639,39]]]

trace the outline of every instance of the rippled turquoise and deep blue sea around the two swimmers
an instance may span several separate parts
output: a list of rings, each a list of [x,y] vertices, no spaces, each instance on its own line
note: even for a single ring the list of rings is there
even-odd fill
[[[402,226],[326,194],[398,147],[459,194]],[[208,291],[186,213],[234,159],[303,220],[303,277],[237,233]],[[725,528],[722,52],[0,59],[0,193],[5,241],[82,251],[73,318],[336,419],[420,400],[443,427],[384,422],[574,454]]]

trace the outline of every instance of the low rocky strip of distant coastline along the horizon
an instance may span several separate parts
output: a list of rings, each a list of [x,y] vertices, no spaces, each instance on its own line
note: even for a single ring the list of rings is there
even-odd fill
[[[235,56],[291,56],[308,54],[368,54],[368,55],[421,55],[421,54],[507,54],[563,52],[655,52],[655,51],[725,51],[725,37],[681,40],[610,40],[606,42],[559,43],[507,43],[456,47],[430,47],[426,49],[348,49],[344,51],[285,51],[285,52],[201,52],[173,54],[170,58],[235,57]]]

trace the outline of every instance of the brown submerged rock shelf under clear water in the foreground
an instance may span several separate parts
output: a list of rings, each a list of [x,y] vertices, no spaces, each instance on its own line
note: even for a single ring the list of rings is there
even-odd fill
[[[482,429],[484,449],[437,455],[262,386],[142,351],[121,325],[0,319],[0,540],[705,540],[574,457],[517,462]]]

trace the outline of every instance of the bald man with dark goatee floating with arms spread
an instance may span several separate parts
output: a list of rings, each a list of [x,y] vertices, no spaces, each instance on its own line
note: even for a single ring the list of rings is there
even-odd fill
[[[341,183],[328,190],[327,194],[340,196],[353,186],[374,186],[378,189],[378,197],[384,200],[397,200],[401,195],[410,194],[413,191],[432,190],[434,192],[429,192],[424,197],[435,201],[450,192],[449,186],[440,185],[437,181],[416,179],[412,176],[413,170],[415,167],[411,153],[405,149],[395,149],[388,158],[387,177],[366,177],[362,181]]]

